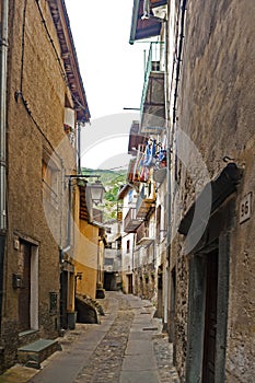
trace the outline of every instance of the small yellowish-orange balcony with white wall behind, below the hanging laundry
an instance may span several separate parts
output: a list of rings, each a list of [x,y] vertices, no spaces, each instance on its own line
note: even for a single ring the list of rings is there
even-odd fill
[[[154,184],[149,183],[142,186],[142,189],[137,199],[137,218],[144,219],[148,212],[154,208],[155,189]]]

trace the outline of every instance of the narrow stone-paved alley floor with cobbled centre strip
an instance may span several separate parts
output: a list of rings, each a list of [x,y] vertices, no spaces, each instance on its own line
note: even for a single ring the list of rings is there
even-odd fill
[[[62,351],[39,371],[16,364],[0,383],[178,383],[172,345],[152,304],[120,292],[106,292],[100,302],[100,325],[77,324],[59,338]]]

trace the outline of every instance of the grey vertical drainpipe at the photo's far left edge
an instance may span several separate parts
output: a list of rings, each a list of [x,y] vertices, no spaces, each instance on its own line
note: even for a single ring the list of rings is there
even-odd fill
[[[2,317],[3,265],[7,233],[7,62],[9,1],[2,1],[0,51],[0,321]]]

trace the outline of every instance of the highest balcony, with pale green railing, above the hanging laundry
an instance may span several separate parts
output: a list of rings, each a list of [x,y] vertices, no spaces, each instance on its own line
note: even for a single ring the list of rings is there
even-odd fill
[[[141,134],[153,135],[164,130],[164,44],[161,42],[150,45],[140,108]]]

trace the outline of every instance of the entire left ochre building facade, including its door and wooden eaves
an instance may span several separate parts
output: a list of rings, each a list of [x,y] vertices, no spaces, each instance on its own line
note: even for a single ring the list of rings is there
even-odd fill
[[[1,28],[2,371],[19,347],[56,338],[61,326],[60,271],[73,280],[62,252],[67,176],[76,172],[76,121],[90,114],[63,1],[3,0]]]

